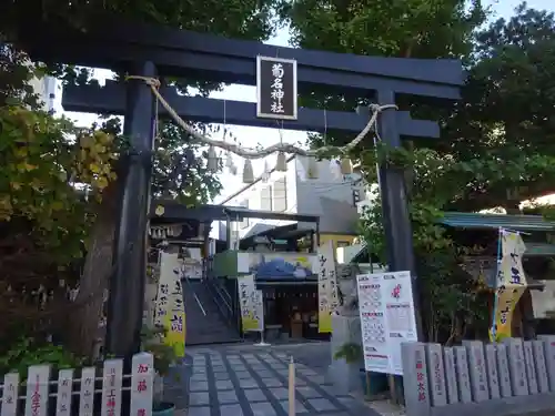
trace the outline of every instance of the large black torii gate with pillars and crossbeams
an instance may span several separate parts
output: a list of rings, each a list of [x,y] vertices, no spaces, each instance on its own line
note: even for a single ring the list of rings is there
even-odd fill
[[[61,28],[34,28],[29,33],[31,58],[92,68],[127,71],[133,75],[183,78],[253,85],[256,57],[279,57],[296,61],[299,93],[313,87],[351,97],[369,98],[380,105],[394,104],[397,94],[456,100],[463,83],[462,64],[455,60],[374,58],[266,45],[194,32],[122,21],[102,21],[87,33]],[[276,126],[275,120],[256,116],[256,105],[203,98],[184,98],[171,89],[162,95],[185,120],[255,126]],[[107,352],[129,356],[139,348],[144,296],[144,248],[147,245],[148,201],[153,151],[154,97],[143,81],[127,84],[108,82],[64,89],[63,106],[69,111],[124,114],[124,134],[131,140],[124,173],[121,217],[117,230],[115,274],[110,283]],[[164,115],[164,112],[162,112]],[[359,133],[369,121],[367,112],[335,112],[299,109],[296,121],[284,121],[283,129],[323,132],[342,130]],[[433,121],[412,120],[408,112],[387,110],[381,114],[381,136],[391,146],[401,136],[438,138]],[[410,270],[418,337],[418,292],[403,172],[380,169],[384,226],[392,271]],[[115,310],[118,308],[118,310]]]

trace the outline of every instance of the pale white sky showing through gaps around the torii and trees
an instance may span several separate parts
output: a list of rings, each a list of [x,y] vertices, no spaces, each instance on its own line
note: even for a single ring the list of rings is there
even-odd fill
[[[485,3],[487,6],[492,6],[494,11],[495,11],[495,18],[497,17],[504,17],[508,18],[511,17],[513,10],[515,7],[517,7],[521,3],[521,0],[486,0]],[[549,11],[555,11],[555,1],[554,0],[528,0],[527,1],[528,7],[535,8],[535,9],[547,9]],[[289,35],[287,35],[287,30],[281,30],[273,39],[268,41],[269,44],[275,44],[275,45],[287,45],[289,41]],[[107,70],[95,70],[94,71],[95,78],[99,79],[101,83],[104,82],[107,78],[111,78],[111,71]],[[236,101],[246,101],[246,102],[256,102],[256,97],[255,97],[255,91],[256,89],[254,87],[245,87],[245,85],[229,85],[225,87],[223,91],[220,92],[214,92],[211,94],[211,98],[216,98],[216,99],[223,99],[223,100],[236,100]],[[57,94],[61,95],[61,94]],[[95,120],[98,120],[97,114],[85,114],[85,113],[75,113],[75,112],[63,112],[63,109],[61,106],[61,99],[58,97],[58,102],[56,103],[57,105],[57,113],[63,113],[70,119],[74,120],[79,125],[90,125],[92,124]],[[223,122],[223,120],[222,120]],[[256,146],[259,143],[266,148],[273,143],[279,142],[280,140],[280,132],[276,129],[262,129],[262,128],[250,128],[250,126],[232,126],[230,129],[235,138],[246,146]],[[214,136],[214,139],[221,139],[218,136]],[[295,131],[284,131],[283,132],[283,141],[289,142],[289,143],[297,143],[302,142],[304,143],[306,139],[306,133],[305,132],[295,132]],[[239,191],[241,187],[244,186],[242,183],[242,176],[241,176],[241,171],[243,168],[243,161],[240,158],[235,158],[235,164],[239,168],[239,174],[238,176],[233,176],[228,172],[223,172],[220,175],[220,180],[223,185],[223,191],[222,194],[215,199],[214,202],[221,201],[223,197],[226,195],[230,195],[231,193]],[[269,164],[272,168],[275,158],[269,159]],[[253,161],[253,168],[254,168],[254,174],[255,176],[260,175],[263,171],[264,166],[264,161]]]

